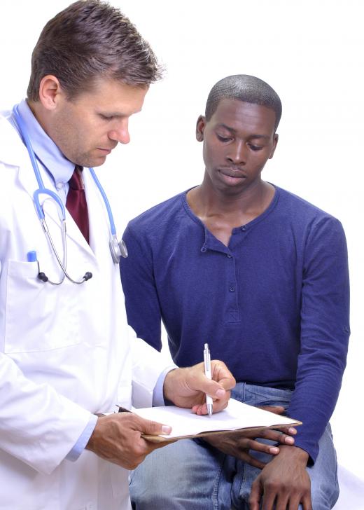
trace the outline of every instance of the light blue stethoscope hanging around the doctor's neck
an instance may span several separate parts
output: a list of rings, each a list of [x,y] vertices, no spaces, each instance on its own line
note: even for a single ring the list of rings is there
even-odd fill
[[[35,174],[36,180],[38,182],[38,189],[36,189],[36,191],[34,191],[34,194],[33,194],[33,200],[34,200],[34,206],[36,208],[36,214],[38,215],[39,221],[41,221],[41,226],[43,227],[45,237],[47,237],[48,242],[50,243],[50,246],[52,247],[52,251],[55,254],[55,257],[56,257],[56,259],[59,263],[59,266],[62,269],[62,273],[63,273],[62,279],[60,282],[51,282],[49,280],[48,276],[46,276],[44,273],[41,272],[41,270],[39,268],[39,263],[38,263],[38,278],[42,282],[49,282],[52,285],[62,284],[62,282],[64,282],[65,278],[68,278],[68,280],[70,282],[73,282],[76,284],[81,284],[83,282],[87,282],[87,280],[90,280],[90,278],[92,278],[92,273],[90,273],[90,271],[87,271],[85,273],[85,275],[83,275],[82,280],[79,280],[79,281],[73,280],[73,278],[71,278],[69,273],[67,273],[67,270],[66,270],[66,264],[67,264],[66,209],[65,209],[64,204],[63,204],[61,198],[59,197],[59,195],[57,195],[57,193],[55,193],[54,191],[52,191],[48,188],[45,188],[45,186],[44,186],[43,179],[41,177],[41,172],[39,171],[38,162],[36,160],[36,155],[34,153],[33,147],[31,146],[29,135],[27,134],[25,125],[22,122],[22,118],[18,112],[18,104],[15,104],[15,106],[13,107],[13,114],[15,117],[15,121],[18,125],[20,135],[22,136],[22,139],[25,142],[25,145],[27,146],[29,158],[31,160],[31,165],[33,167],[34,174]],[[122,256],[124,258],[127,257],[127,247],[125,246],[125,242],[123,240],[120,240],[120,242],[119,242],[118,238],[116,237],[116,228],[115,228],[115,223],[113,221],[113,213],[111,212],[109,200],[106,197],[104,188],[102,188],[102,185],[100,184],[99,179],[97,179],[97,176],[94,173],[94,169],[90,168],[89,170],[92,175],[92,179],[94,179],[94,183],[96,184],[97,188],[99,189],[99,192],[102,195],[102,198],[104,199],[104,203],[105,203],[107,214],[109,216],[109,223],[110,223],[109,245],[110,245],[111,257],[113,259],[113,262],[118,264],[120,256]],[[39,195],[48,195],[50,198],[52,198],[52,200],[54,200],[56,202],[56,204],[59,207],[59,210],[61,212],[60,219],[61,219],[62,249],[63,249],[62,260],[57,252],[57,249],[55,248],[55,243],[52,240],[52,236],[50,235],[50,231],[47,226],[47,222],[45,221],[43,205],[41,205]],[[35,252],[32,252],[32,253],[35,253]]]

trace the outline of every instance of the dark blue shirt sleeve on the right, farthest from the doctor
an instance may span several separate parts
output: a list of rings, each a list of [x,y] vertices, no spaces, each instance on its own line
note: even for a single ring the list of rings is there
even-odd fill
[[[304,251],[301,347],[288,415],[302,421],[295,446],[315,462],[318,440],[335,408],[349,341],[349,270],[341,223],[311,227]]]

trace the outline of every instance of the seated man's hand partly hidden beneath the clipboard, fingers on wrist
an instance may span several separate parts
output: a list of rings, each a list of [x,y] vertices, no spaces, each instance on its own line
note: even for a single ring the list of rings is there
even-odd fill
[[[271,413],[276,414],[281,414],[284,411],[284,408],[280,406],[266,406],[261,408],[265,409],[265,411],[270,411]],[[276,443],[293,445],[295,440],[292,436],[296,433],[297,431],[294,427],[287,427],[286,429],[282,429],[281,432],[277,432],[272,429],[265,429],[260,432],[250,431],[235,434],[216,434],[206,436],[204,441],[207,441],[207,443],[218,448],[218,450],[221,450],[223,453],[237,457],[238,459],[251,464],[251,466],[262,469],[265,467],[265,462],[261,462],[250,455],[249,450],[268,453],[269,455],[277,455],[279,453],[279,448],[277,446],[260,443],[256,441],[256,439],[269,439]]]

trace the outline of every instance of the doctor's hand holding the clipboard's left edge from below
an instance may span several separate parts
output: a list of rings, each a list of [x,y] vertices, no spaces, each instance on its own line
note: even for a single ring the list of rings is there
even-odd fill
[[[134,413],[113,413],[100,416],[86,449],[114,464],[135,469],[156,448],[169,443],[152,443],[141,434],[169,434],[171,427],[144,420]]]

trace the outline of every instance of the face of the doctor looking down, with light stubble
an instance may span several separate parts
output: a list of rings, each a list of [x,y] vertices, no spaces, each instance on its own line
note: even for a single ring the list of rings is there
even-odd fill
[[[141,111],[147,91],[106,79],[72,100],[61,91],[48,117],[48,135],[72,163],[102,165],[119,142],[130,142],[129,118]]]

